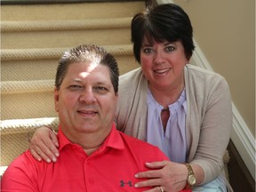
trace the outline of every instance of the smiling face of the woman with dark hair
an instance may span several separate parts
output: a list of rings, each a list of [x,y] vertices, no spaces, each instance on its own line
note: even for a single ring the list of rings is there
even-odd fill
[[[140,63],[148,83],[155,89],[175,89],[184,84],[183,69],[188,60],[180,41],[150,44],[145,38]]]

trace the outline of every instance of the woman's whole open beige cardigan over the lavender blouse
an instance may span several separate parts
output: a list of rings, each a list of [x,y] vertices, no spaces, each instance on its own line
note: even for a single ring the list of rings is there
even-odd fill
[[[213,72],[186,65],[187,161],[200,164],[204,183],[223,171],[222,157],[232,129],[232,105],[226,80]],[[140,140],[146,140],[148,81],[141,68],[120,76],[116,127]]]

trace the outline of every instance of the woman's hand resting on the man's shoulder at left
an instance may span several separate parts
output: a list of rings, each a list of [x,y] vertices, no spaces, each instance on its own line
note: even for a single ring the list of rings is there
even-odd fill
[[[47,163],[56,162],[60,155],[59,141],[55,132],[48,127],[40,127],[34,133],[30,140],[29,150],[32,156],[38,161],[46,161]]]

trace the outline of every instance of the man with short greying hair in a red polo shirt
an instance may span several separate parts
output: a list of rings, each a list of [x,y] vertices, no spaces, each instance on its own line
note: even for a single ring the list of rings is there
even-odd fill
[[[141,191],[135,173],[168,158],[116,130],[118,67],[104,49],[84,44],[65,52],[54,88],[60,157],[38,162],[26,151],[8,167],[2,191]],[[159,191],[164,189],[159,186]]]

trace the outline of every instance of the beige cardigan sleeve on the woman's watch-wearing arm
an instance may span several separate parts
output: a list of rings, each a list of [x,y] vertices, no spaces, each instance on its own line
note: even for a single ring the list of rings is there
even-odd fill
[[[202,184],[214,180],[223,171],[223,156],[232,129],[232,106],[227,82],[222,78],[210,87],[207,97],[204,95],[207,107],[202,119],[196,154],[191,162],[199,164],[204,170]]]

